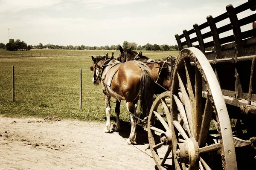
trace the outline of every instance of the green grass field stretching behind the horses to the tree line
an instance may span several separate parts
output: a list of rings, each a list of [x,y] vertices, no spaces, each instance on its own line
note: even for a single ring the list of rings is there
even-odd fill
[[[94,86],[90,55],[104,55],[103,50],[0,50],[0,115],[17,118],[44,118],[103,121],[105,106],[101,86]],[[112,51],[108,51],[110,54]],[[31,54],[34,57],[31,57]],[[38,54],[41,53],[41,57]],[[42,54],[48,54],[43,56]],[[69,56],[60,54],[69,53]],[[115,57],[119,51],[114,51]],[[143,55],[159,59],[179,52],[144,51]],[[20,55],[21,54],[21,55]],[[30,55],[26,55],[30,54]],[[72,55],[70,55],[72,54]],[[12,66],[15,66],[15,102],[12,102]],[[82,69],[82,109],[79,109],[79,69]],[[113,100],[113,99],[112,99]],[[125,105],[125,104],[124,104]],[[115,116],[111,104],[111,115]],[[121,106],[120,119],[129,121]]]

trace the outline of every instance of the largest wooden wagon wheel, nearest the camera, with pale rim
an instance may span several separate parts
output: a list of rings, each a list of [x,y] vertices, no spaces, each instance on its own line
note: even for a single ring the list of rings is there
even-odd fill
[[[199,49],[183,49],[178,55],[171,96],[175,169],[237,169],[230,118],[221,88]]]

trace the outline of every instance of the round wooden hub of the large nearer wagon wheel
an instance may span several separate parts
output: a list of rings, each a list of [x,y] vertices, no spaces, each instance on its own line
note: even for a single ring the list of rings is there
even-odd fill
[[[184,143],[177,144],[176,158],[180,163],[195,166],[199,158],[199,147],[195,138],[189,138]]]

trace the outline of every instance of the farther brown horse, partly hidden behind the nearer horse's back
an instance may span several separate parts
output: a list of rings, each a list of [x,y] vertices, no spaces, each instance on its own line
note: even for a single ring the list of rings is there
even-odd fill
[[[142,52],[137,53],[132,51],[131,48],[123,50],[122,46],[119,46],[121,54],[117,58],[120,62],[126,62],[131,60],[142,61],[146,63],[152,70],[152,77],[157,84],[154,88],[154,94],[160,94],[167,90],[171,90],[172,80],[172,67],[175,63],[175,57],[168,56],[167,58],[154,61],[146,56],[142,55]]]

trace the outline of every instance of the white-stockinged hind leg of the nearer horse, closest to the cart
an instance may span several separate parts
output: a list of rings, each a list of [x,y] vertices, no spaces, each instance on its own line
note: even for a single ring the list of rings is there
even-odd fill
[[[134,107],[134,104],[132,102],[126,102],[126,106],[127,106],[127,109],[133,113],[134,115],[137,116],[137,113],[136,113],[136,109]],[[132,144],[134,143],[135,139],[136,139],[136,124],[137,124],[137,119],[130,115],[130,118],[131,118],[131,133],[130,133],[130,136],[129,138],[126,140],[128,144]]]

